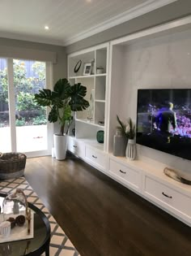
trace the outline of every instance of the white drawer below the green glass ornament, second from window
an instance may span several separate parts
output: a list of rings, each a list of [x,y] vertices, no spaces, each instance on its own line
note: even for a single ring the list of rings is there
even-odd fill
[[[88,162],[91,162],[96,167],[99,167],[102,170],[106,169],[106,155],[104,152],[99,152],[98,150],[94,150],[89,146],[86,146],[85,156]]]

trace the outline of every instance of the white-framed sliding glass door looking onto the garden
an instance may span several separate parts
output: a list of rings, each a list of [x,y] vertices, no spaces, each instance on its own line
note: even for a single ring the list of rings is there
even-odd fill
[[[48,133],[52,131],[47,124],[46,108],[34,102],[34,94],[46,88],[47,66],[47,63],[32,60],[7,59],[6,68],[1,67],[0,86],[7,88],[5,102],[9,106],[6,123],[10,126],[6,125],[6,132],[11,138],[9,148],[5,141],[0,142],[2,152],[17,151],[28,156],[50,154],[52,145]]]

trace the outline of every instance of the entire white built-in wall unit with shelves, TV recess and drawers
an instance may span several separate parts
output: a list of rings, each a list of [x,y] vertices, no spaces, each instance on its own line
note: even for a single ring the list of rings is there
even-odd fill
[[[87,111],[77,113],[76,134],[70,137],[68,149],[189,226],[191,186],[165,176],[163,168],[173,164],[180,171],[190,171],[190,161],[140,145],[138,158],[129,161],[113,156],[112,145],[117,115],[136,122],[138,89],[191,88],[190,56],[191,15],[68,56],[70,82],[87,86],[88,101],[95,90],[94,118],[90,122]],[[83,63],[95,59],[95,74],[83,76],[81,68],[75,76],[79,59]],[[99,66],[104,74],[96,74]],[[100,129],[104,145],[96,141]]]

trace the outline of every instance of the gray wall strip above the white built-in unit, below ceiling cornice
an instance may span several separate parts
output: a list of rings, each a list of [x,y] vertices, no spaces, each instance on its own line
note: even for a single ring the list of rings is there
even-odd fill
[[[159,1],[159,0],[158,0]],[[163,24],[170,20],[176,20],[179,17],[191,14],[191,0],[179,0],[173,2],[168,6],[161,7],[155,11],[151,11],[146,15],[139,16],[134,20],[129,20],[116,27],[109,28],[104,32],[97,33],[94,36],[87,37],[70,46],[66,46],[66,53],[82,50],[90,46],[96,46],[100,43],[111,41],[117,37],[123,37],[130,33],[138,32],[142,29],[150,28],[152,26]]]

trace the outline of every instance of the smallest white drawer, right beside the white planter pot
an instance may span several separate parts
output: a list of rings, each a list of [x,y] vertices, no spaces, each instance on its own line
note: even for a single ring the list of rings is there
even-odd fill
[[[83,141],[78,141],[70,137],[68,140],[68,150],[80,158],[84,158],[85,146]]]

